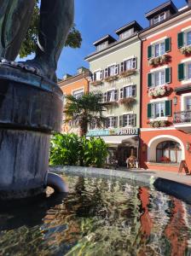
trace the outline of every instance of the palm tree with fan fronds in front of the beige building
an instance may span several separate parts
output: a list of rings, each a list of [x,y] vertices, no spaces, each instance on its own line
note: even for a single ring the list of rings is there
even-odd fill
[[[66,96],[67,104],[64,109],[66,114],[65,123],[68,121],[77,122],[80,127],[80,136],[83,137],[88,131],[88,125],[96,124],[98,127],[104,123],[102,116],[106,111],[107,105],[102,103],[101,92],[89,92],[83,96]]]

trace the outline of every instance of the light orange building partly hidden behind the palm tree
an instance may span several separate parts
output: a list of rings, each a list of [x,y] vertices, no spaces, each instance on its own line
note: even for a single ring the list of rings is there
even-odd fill
[[[82,96],[84,93],[89,92],[90,70],[85,67],[79,67],[78,73],[74,76],[65,75],[58,85],[61,87],[64,96],[72,95],[75,97]],[[66,102],[65,102],[66,103]],[[78,124],[70,121],[65,123],[65,115],[63,114],[63,133],[74,132],[79,133]]]

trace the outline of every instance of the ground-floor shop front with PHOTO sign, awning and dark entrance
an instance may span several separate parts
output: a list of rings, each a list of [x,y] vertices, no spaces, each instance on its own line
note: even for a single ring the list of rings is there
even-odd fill
[[[87,137],[101,137],[109,147],[107,164],[126,166],[126,160],[133,155],[138,159],[139,129],[116,128],[90,130]]]

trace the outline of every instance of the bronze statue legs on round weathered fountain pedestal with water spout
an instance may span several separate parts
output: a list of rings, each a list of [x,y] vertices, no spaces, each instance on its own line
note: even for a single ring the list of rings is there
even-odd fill
[[[73,0],[41,1],[36,56],[26,62],[14,59],[35,1],[0,2],[0,200],[41,195],[51,184],[66,191],[60,177],[48,175],[49,138],[61,130],[55,70],[72,26]]]

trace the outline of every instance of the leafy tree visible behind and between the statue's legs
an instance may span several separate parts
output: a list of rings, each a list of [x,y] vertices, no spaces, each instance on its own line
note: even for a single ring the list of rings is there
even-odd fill
[[[38,24],[39,24],[39,0],[35,0],[35,7],[32,15],[31,24],[26,32],[26,38],[20,47],[20,58],[31,55],[35,52],[36,45],[38,44]],[[80,48],[82,43],[82,37],[75,24],[73,24],[71,31],[67,37],[65,46]]]

